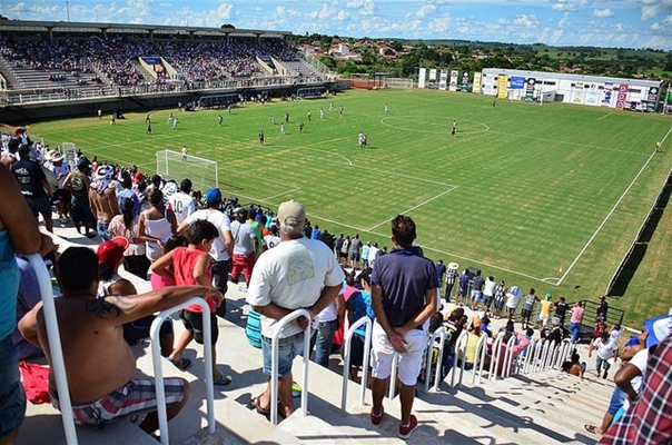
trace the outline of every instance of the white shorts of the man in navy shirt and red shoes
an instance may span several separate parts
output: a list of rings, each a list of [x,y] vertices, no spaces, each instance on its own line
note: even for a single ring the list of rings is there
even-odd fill
[[[399,354],[397,374],[404,385],[415,386],[417,383],[426,346],[427,336],[424,330],[412,329],[406,333],[406,353]],[[372,338],[372,374],[374,377],[381,379],[389,377],[394,355],[394,347],[387,339],[385,330],[374,322]]]

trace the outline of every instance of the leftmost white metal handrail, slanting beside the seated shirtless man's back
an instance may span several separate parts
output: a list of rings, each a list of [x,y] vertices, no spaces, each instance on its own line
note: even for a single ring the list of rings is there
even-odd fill
[[[75,429],[75,416],[72,415],[72,402],[70,400],[70,390],[68,389],[68,377],[66,375],[66,362],[63,360],[63,349],[61,337],[58,329],[58,319],[56,317],[56,305],[53,303],[53,289],[51,278],[47,266],[38,254],[27,256],[38,279],[40,295],[42,297],[42,312],[45,314],[45,324],[47,325],[47,337],[49,338],[49,350],[51,353],[51,369],[56,378],[56,389],[58,390],[58,402],[66,432],[66,443],[77,445],[77,431]]]

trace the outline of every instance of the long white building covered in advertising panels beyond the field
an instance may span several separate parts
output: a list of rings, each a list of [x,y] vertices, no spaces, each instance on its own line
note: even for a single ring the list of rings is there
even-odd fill
[[[474,92],[510,100],[655,111],[663,93],[661,86],[661,80],[486,68]]]

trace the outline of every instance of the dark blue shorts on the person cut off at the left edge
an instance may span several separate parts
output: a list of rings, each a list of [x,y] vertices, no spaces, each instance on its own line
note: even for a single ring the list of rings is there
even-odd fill
[[[0,438],[3,438],[21,426],[26,415],[26,393],[11,335],[0,340]]]

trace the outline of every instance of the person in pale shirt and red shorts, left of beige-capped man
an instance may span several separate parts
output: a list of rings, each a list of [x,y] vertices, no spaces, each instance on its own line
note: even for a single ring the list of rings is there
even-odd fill
[[[247,210],[244,208],[234,209],[234,220],[231,221],[231,237],[234,239],[233,261],[231,261],[231,281],[238,284],[240,274],[245,276],[245,287],[238,286],[238,289],[245,291],[249,287],[253,268],[259,250],[259,239],[255,228],[247,224]]]

